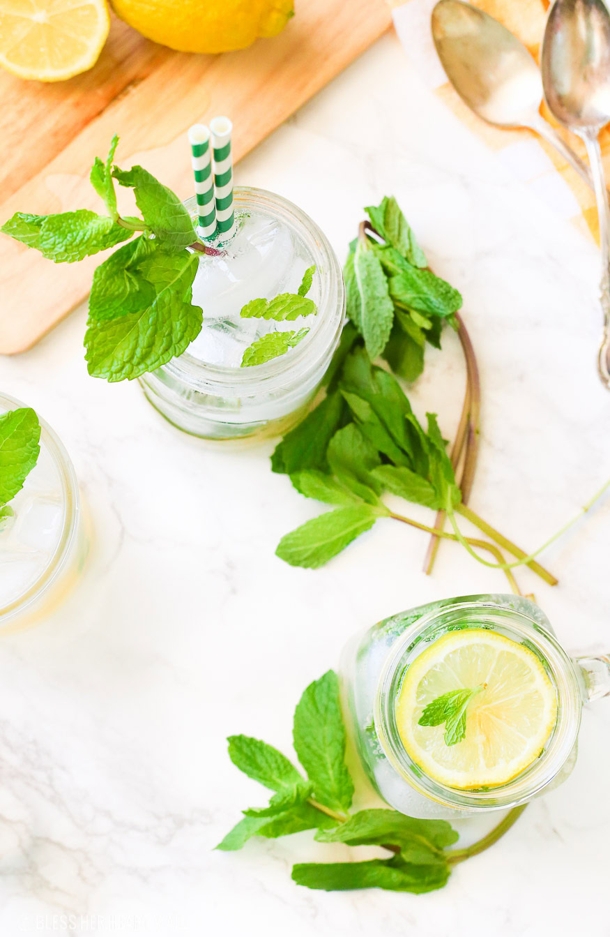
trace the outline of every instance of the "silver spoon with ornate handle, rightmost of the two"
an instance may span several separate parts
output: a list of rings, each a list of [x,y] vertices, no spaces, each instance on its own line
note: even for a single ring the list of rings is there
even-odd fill
[[[603,342],[599,372],[610,389],[610,219],[598,134],[610,121],[610,13],[603,0],[556,0],[542,52],[545,98],[582,137],[591,164],[602,246]]]

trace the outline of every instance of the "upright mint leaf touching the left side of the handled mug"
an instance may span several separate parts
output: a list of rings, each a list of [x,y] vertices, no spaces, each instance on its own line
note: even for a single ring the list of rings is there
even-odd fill
[[[295,709],[293,739],[315,800],[331,810],[348,811],[354,783],[345,765],[345,726],[334,671],[313,680],[303,692]]]

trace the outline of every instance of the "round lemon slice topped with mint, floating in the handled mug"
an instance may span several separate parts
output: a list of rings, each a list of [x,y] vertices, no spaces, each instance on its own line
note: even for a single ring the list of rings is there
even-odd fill
[[[466,735],[446,745],[444,726],[419,725],[443,693],[478,689]],[[539,756],[557,720],[557,695],[527,647],[484,629],[449,632],[407,667],[396,702],[399,736],[416,765],[450,787],[504,784]]]

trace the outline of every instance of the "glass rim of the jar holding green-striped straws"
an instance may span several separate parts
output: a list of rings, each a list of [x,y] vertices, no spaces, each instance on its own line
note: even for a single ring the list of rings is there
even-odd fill
[[[322,296],[320,298],[316,320],[320,327],[312,329],[308,335],[290,351],[265,364],[251,367],[225,367],[220,364],[206,364],[184,351],[178,358],[172,358],[159,370],[166,371],[174,379],[191,384],[197,390],[204,387],[208,393],[226,392],[227,387],[239,390],[240,394],[253,394],[264,389],[273,392],[286,384],[287,376],[291,380],[305,379],[310,371],[315,370],[320,358],[324,357],[329,347],[333,347],[337,335],[341,332],[344,320],[345,295],[341,266],[327,236],[294,202],[267,189],[252,186],[236,186],[234,189],[236,208],[267,208],[291,220],[298,222],[299,233],[308,246],[313,262],[318,270],[324,270],[322,277]],[[196,211],[195,197],[187,199],[184,205]],[[326,310],[338,310],[338,315],[327,315]]]

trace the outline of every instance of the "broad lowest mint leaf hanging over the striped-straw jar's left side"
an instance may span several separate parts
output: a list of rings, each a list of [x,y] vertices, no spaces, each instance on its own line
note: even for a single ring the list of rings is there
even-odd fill
[[[150,305],[114,319],[90,317],[85,334],[89,374],[109,381],[138,378],[182,354],[201,331],[203,315],[192,305],[195,254],[154,245],[138,270],[152,284]]]

